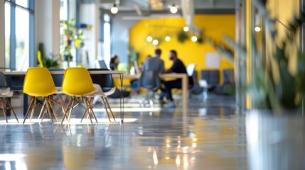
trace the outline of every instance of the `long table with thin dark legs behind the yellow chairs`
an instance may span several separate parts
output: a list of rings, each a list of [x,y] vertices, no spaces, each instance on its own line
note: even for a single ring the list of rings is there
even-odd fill
[[[53,75],[63,75],[63,71],[55,71],[50,72]],[[89,71],[90,74],[113,74],[116,77],[119,77],[121,81],[121,91],[123,89],[123,74],[124,72],[119,71]],[[11,91],[23,91],[23,81],[24,77],[26,75],[26,72],[4,72],[6,75],[6,81],[8,86],[11,88]],[[121,123],[124,122],[124,98],[122,97],[123,93],[121,92],[121,98],[120,98],[120,117],[121,117]],[[28,95],[23,94],[23,115],[26,114],[26,111],[28,109]],[[9,113],[9,112],[8,112]]]

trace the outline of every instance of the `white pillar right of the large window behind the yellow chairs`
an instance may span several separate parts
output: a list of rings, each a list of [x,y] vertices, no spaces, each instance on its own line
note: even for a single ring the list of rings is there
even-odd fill
[[[35,55],[39,42],[47,57],[60,53],[60,0],[35,1]]]

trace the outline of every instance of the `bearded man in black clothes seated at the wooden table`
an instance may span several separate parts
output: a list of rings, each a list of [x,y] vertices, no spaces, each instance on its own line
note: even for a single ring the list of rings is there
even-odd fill
[[[169,51],[168,57],[169,57],[169,60],[173,61],[173,65],[171,66],[170,69],[166,70],[166,73],[174,72],[174,73],[185,73],[185,74],[187,74],[186,67],[184,66],[183,62],[178,59],[176,50]],[[163,98],[164,98],[164,96],[166,96],[167,101],[168,101],[167,106],[168,107],[175,107],[176,105],[173,102],[173,96],[171,94],[171,89],[173,89],[173,88],[181,89],[182,88],[181,79],[176,79],[176,80],[172,80],[172,81],[165,81],[164,86],[165,86],[165,89],[164,89],[164,91],[162,92],[162,94],[159,98],[160,102],[163,103]],[[184,97],[184,96],[182,96],[182,97]]]

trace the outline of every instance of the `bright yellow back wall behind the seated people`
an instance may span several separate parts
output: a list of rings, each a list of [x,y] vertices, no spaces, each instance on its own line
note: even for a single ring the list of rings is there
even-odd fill
[[[203,30],[203,34],[213,40],[221,41],[223,35],[235,38],[235,15],[196,15],[193,22]],[[207,42],[198,43],[186,40],[181,43],[177,40],[177,33],[185,26],[184,18],[156,18],[139,21],[129,30],[129,47],[134,47],[139,52],[138,63],[141,64],[147,55],[154,55],[156,48],[146,41],[146,36],[151,35],[159,40],[158,47],[162,50],[161,59],[165,62],[165,67],[171,67],[172,62],[168,60],[168,51],[176,50],[178,58],[185,65],[196,63],[198,73],[201,69],[222,69],[233,68],[234,64],[227,62],[224,58],[220,59],[220,68],[205,67],[205,52],[214,52],[215,49]],[[171,41],[166,42],[165,36],[169,34]],[[190,36],[191,37],[191,36]],[[200,78],[200,73],[198,74]],[[220,82],[223,75],[220,74]]]

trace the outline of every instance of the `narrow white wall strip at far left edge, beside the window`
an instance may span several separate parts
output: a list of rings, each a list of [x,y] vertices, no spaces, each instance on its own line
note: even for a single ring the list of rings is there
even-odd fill
[[[4,0],[0,0],[0,67],[5,66],[5,26],[4,26]],[[1,69],[0,69],[1,70]]]

